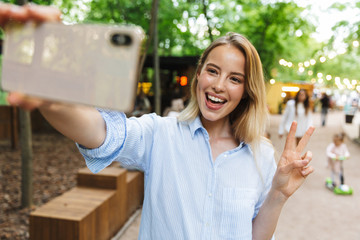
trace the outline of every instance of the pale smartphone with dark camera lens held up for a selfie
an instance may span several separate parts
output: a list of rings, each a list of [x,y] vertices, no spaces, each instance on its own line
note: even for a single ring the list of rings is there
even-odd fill
[[[2,88],[130,112],[144,39],[136,26],[10,23],[3,43]]]

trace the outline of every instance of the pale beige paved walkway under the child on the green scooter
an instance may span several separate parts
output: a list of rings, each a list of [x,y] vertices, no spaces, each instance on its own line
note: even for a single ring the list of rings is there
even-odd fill
[[[277,128],[280,115],[271,116],[270,134],[275,149],[281,154],[285,139],[279,139]],[[319,114],[314,114],[315,133],[308,144],[313,152],[312,165],[315,172],[288,200],[279,219],[277,240],[359,240],[360,239],[360,145],[352,139],[359,137],[360,114],[353,124],[345,124],[343,112],[330,112],[325,127],[320,126]],[[325,149],[332,136],[345,131],[351,158],[345,162],[345,183],[354,189],[352,196],[338,196],[325,188],[329,175]],[[140,215],[119,238],[136,240]]]

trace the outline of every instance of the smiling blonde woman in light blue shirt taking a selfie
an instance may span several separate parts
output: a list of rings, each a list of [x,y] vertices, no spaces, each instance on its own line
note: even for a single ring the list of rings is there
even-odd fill
[[[34,6],[16,11],[22,19],[58,19],[54,10]],[[0,21],[14,18],[11,9],[2,12]],[[39,108],[77,142],[92,171],[112,161],[144,171],[139,239],[271,239],[286,200],[313,171],[311,152],[301,154],[314,128],[296,145],[292,124],[276,168],[274,150],[262,137],[267,111],[261,62],[239,34],[221,37],[204,51],[191,91],[178,119],[126,118],[19,93],[8,100]]]

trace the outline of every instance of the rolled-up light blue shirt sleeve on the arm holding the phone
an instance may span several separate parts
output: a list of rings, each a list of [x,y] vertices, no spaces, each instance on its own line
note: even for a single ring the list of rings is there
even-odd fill
[[[156,127],[156,114],[126,118],[122,112],[98,109],[106,123],[102,145],[87,149],[77,144],[90,171],[97,173],[118,161],[123,167],[146,171]]]

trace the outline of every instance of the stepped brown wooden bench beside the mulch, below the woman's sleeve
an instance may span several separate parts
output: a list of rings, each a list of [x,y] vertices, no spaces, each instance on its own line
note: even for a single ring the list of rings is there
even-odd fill
[[[142,203],[140,172],[109,167],[93,174],[84,168],[77,182],[30,214],[30,239],[110,239]]]

